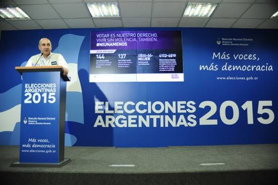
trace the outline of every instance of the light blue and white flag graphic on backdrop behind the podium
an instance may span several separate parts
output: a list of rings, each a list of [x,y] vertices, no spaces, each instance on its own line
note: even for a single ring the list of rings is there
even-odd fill
[[[59,45],[52,52],[61,53],[69,64],[71,81],[67,83],[66,124],[84,124],[83,98],[78,77],[78,56],[84,36],[65,34],[59,40]],[[21,66],[25,66],[23,61]],[[0,94],[0,145],[19,145],[21,84],[18,84]],[[77,138],[65,134],[65,146],[72,146]]]

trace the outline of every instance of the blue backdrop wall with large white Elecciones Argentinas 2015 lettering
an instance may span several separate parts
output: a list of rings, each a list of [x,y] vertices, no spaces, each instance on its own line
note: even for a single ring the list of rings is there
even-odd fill
[[[184,82],[89,83],[91,31],[120,30],[181,30]],[[1,145],[19,145],[21,76],[15,67],[39,53],[42,37],[70,66],[66,146],[278,143],[277,30],[60,29],[1,36]]]

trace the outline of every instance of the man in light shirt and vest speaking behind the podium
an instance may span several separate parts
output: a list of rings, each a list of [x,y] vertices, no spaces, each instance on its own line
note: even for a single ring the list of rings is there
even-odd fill
[[[64,68],[64,75],[68,75],[69,65],[62,54],[51,52],[52,45],[48,38],[41,38],[38,48],[41,53],[31,56],[27,61],[26,67],[62,66]]]

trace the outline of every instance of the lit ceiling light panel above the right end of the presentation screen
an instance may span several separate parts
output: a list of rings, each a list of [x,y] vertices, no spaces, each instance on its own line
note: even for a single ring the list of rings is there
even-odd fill
[[[217,3],[188,3],[183,17],[209,17]]]

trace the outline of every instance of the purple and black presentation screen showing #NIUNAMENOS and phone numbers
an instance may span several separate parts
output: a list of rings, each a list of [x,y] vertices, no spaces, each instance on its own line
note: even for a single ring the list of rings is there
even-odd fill
[[[90,82],[183,82],[181,31],[93,31]]]

